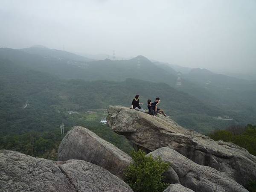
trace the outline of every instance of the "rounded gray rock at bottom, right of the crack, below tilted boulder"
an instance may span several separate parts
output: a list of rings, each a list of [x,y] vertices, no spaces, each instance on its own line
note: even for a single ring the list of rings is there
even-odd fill
[[[132,192],[124,181],[92,163],[67,160],[57,164],[79,192]]]

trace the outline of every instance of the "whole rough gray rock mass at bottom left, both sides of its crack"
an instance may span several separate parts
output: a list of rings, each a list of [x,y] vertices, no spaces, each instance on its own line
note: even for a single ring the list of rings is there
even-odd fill
[[[82,160],[53,162],[0,150],[1,192],[132,192],[107,170]]]

